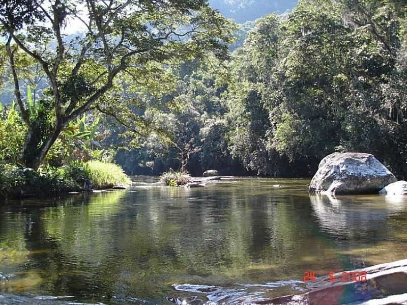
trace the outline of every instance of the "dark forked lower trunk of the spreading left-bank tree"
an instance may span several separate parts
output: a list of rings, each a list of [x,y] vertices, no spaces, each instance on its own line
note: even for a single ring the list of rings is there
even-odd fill
[[[62,124],[59,124],[53,128],[48,136],[44,136],[41,134],[39,124],[37,121],[33,122],[33,125],[28,128],[20,159],[22,164],[35,171],[38,170],[42,160],[62,131]],[[43,140],[44,138],[45,140]]]

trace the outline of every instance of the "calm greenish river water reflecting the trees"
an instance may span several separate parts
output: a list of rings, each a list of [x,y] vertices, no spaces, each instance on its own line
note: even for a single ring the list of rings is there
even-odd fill
[[[308,180],[157,180],[0,205],[0,303],[240,304],[304,293],[305,270],[407,258],[407,197],[309,196]]]

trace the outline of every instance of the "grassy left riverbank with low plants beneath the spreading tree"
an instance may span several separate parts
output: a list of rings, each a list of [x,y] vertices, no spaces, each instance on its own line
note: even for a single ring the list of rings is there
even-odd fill
[[[39,171],[0,163],[0,199],[50,197],[70,191],[128,187],[129,177],[113,163],[72,162],[61,168],[43,167]]]

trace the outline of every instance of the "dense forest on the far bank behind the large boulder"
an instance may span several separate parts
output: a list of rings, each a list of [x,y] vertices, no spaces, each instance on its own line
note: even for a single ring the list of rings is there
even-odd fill
[[[145,114],[175,144],[151,134],[117,160],[158,174],[189,151],[195,175],[308,177],[327,154],[360,151],[406,177],[405,12],[398,1],[303,1],[259,19],[229,61],[181,67],[167,96],[178,112]]]

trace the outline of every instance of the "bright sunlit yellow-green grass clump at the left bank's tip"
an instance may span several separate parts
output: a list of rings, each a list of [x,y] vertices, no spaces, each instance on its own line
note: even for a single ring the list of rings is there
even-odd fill
[[[113,186],[128,187],[131,184],[131,180],[119,165],[97,160],[86,162],[84,165],[84,176],[91,180],[96,189]]]

